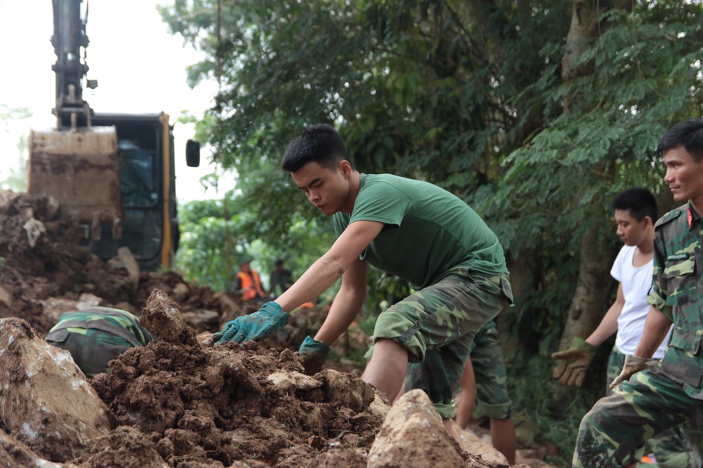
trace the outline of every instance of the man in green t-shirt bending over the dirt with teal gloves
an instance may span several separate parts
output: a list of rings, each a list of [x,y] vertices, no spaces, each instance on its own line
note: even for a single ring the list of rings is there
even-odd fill
[[[214,340],[245,342],[274,333],[295,307],[342,284],[325,323],[299,352],[306,370],[321,367],[329,346],[366,299],[368,265],[400,276],[416,291],[378,317],[374,351],[361,378],[390,400],[420,388],[458,439],[453,392],[473,337],[512,302],[496,234],[457,196],[428,182],[354,169],[340,135],[311,126],[288,146],[282,167],[325,215],[337,241],[274,302],[226,323]],[[405,378],[407,376],[407,379]]]

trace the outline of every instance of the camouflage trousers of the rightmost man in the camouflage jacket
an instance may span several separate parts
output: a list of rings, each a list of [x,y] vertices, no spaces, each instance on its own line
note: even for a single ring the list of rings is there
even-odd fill
[[[624,466],[638,446],[655,434],[690,420],[700,411],[703,401],[690,398],[681,385],[662,374],[659,366],[640,371],[618,385],[612,394],[598,400],[583,417],[572,466]],[[678,450],[679,455],[660,465],[699,466],[690,448]]]

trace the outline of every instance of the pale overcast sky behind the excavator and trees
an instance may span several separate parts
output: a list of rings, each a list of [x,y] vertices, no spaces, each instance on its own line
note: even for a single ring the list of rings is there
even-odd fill
[[[84,98],[95,112],[157,113],[164,111],[174,124],[181,111],[201,116],[212,105],[217,87],[202,83],[194,90],[186,84],[186,67],[200,59],[180,36],[167,32],[155,6],[163,0],[91,0],[87,34],[90,44],[86,62],[89,79],[98,88],[87,89]],[[84,1],[85,4],[85,1]],[[51,0],[0,0],[0,105],[26,107],[32,118],[0,122],[0,178],[17,161],[20,135],[30,128],[51,128],[56,74],[51,65],[56,55]],[[176,194],[182,201],[214,198],[198,179],[214,171],[209,153],[202,153],[201,167],[185,163],[186,140],[192,126],[174,126]],[[231,188],[233,181],[224,183]]]

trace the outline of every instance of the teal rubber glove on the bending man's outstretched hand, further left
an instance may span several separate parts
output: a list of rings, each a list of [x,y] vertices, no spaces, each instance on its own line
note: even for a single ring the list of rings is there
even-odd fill
[[[276,302],[266,302],[253,314],[243,315],[224,324],[221,332],[212,335],[217,340],[215,346],[222,343],[243,343],[261,340],[280,330],[288,323],[288,314]]]

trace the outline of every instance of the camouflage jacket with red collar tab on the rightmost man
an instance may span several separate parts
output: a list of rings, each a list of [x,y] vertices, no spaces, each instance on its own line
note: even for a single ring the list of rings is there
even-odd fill
[[[661,370],[703,400],[702,220],[686,204],[654,225],[654,281],[647,302],[673,321]]]

